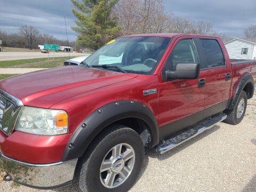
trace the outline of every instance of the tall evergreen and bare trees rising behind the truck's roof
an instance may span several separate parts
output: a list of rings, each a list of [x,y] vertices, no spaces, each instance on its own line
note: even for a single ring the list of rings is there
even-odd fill
[[[223,42],[229,36],[213,30],[211,22],[193,21],[163,11],[163,0],[71,0],[77,18],[77,43],[98,49],[113,38],[140,33],[191,33],[216,35]],[[256,26],[244,30],[256,38]]]

